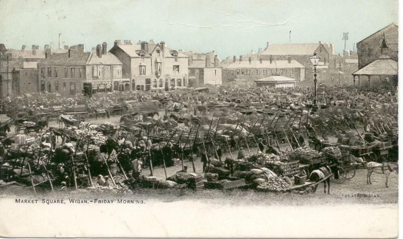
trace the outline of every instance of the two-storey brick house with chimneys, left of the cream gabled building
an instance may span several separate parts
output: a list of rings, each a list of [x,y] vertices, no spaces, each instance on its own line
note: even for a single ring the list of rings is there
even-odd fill
[[[121,82],[122,63],[107,45],[97,45],[96,52],[85,52],[84,45],[71,46],[65,53],[51,54],[38,63],[40,92],[57,92],[62,96],[92,95],[110,92]],[[119,88],[119,87],[117,87]]]

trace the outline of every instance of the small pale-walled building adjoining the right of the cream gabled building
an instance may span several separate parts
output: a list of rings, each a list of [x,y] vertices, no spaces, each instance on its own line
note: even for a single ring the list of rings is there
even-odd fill
[[[189,61],[189,86],[203,87],[206,84],[222,85],[221,68],[218,67],[220,59],[214,51],[209,53],[194,53],[182,51]]]

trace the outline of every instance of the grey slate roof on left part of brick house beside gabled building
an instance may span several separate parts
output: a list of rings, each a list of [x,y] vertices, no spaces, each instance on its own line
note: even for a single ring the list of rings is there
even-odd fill
[[[56,53],[51,54],[49,57],[41,61],[40,64],[44,63],[44,64],[59,64],[59,65],[73,65],[73,66],[86,65],[90,54],[91,54],[90,52],[74,51],[71,52],[71,55],[69,57],[69,52]]]

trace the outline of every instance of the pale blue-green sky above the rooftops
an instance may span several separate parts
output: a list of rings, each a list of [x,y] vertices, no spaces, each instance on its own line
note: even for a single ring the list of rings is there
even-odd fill
[[[342,53],[356,42],[398,23],[397,0],[0,0],[0,43],[7,48],[45,44],[97,44],[165,41],[172,49],[221,59],[259,48],[266,42],[333,43]]]

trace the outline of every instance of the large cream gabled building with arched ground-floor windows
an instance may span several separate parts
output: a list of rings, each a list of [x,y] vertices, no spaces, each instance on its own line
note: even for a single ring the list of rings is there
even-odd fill
[[[132,44],[116,40],[110,49],[122,62],[123,78],[131,90],[184,88],[188,85],[188,56],[154,40]]]

